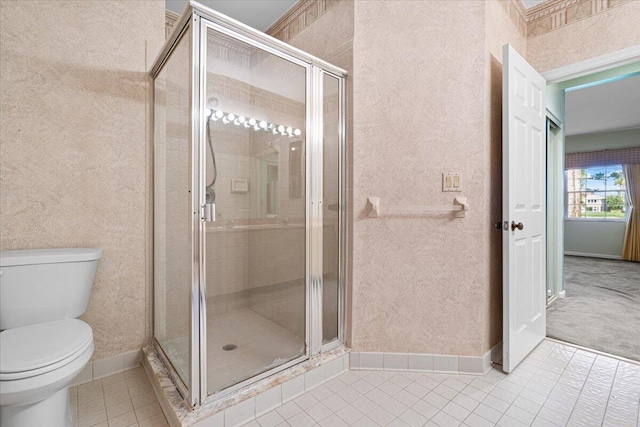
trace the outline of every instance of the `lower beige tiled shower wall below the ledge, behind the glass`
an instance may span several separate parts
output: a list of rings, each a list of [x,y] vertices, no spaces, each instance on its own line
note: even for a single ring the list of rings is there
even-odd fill
[[[275,226],[267,230],[222,229],[208,234],[207,293],[210,314],[249,307],[294,333],[304,326],[305,229]],[[337,230],[325,227],[325,242],[336,241]],[[251,242],[251,245],[250,245]],[[238,246],[234,246],[238,245]],[[335,247],[335,246],[333,246]],[[328,255],[334,255],[327,249]],[[329,253],[331,252],[331,253]],[[337,319],[337,262],[325,257],[325,317],[335,329]]]

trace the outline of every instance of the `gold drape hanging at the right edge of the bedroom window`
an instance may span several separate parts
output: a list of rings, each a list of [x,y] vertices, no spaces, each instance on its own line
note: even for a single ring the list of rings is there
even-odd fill
[[[640,164],[622,165],[622,169],[630,205],[622,259],[640,262]]]

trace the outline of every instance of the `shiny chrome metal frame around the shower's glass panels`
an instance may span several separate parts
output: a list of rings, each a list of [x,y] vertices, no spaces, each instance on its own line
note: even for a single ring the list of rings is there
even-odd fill
[[[344,344],[345,339],[345,273],[346,273],[346,150],[345,150],[345,78],[346,71],[335,67],[306,52],[287,45],[240,22],[230,19],[197,2],[191,1],[176,23],[165,46],[150,70],[152,79],[158,75],[173,48],[187,28],[191,27],[191,113],[189,140],[191,143],[191,200],[192,200],[192,248],[191,248],[191,321],[189,378],[186,384],[175,371],[154,337],[153,343],[168,368],[180,393],[192,407],[205,401],[228,396],[234,391],[273,375],[310,357]],[[203,120],[206,109],[206,54],[207,31],[212,29],[242,42],[262,49],[282,59],[300,65],[306,70],[306,254],[305,254],[305,312],[306,352],[303,356],[283,365],[251,377],[211,396],[207,393],[207,311],[206,311],[206,222],[202,207],[206,197],[206,137]],[[338,270],[338,338],[322,343],[323,298],[323,98],[322,77],[326,73],[339,80],[339,270]],[[154,287],[155,289],[155,287]]]

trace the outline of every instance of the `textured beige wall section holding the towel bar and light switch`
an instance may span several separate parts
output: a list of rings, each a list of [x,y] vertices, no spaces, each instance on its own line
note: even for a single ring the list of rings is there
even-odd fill
[[[479,355],[487,348],[483,2],[356,2],[353,348]],[[462,193],[441,192],[442,172]],[[452,205],[464,219],[369,219],[382,207]]]

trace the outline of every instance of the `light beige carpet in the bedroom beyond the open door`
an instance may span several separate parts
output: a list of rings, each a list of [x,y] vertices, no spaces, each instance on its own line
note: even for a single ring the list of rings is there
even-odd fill
[[[640,361],[640,263],[565,256],[547,336]]]

